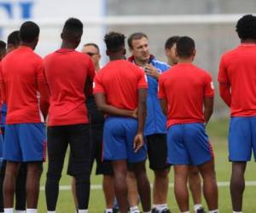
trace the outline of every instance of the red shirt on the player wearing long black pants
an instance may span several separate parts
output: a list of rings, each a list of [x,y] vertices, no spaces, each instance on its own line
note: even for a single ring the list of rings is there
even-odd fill
[[[44,58],[50,91],[49,126],[88,123],[84,86],[93,81],[95,68],[89,55],[58,49]]]

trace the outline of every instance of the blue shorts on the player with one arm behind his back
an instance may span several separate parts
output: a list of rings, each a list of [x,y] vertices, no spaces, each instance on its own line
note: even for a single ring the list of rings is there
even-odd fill
[[[133,140],[137,134],[137,120],[124,117],[108,117],[103,129],[103,159],[124,160],[137,163],[147,158],[147,147],[135,153]]]

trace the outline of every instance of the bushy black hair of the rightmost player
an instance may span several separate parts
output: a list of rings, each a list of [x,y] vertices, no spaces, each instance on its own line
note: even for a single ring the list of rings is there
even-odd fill
[[[236,32],[241,39],[256,39],[256,16],[246,14],[237,21]]]

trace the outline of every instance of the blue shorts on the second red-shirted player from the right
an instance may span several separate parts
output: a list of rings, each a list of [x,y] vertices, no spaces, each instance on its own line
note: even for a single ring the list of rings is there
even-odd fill
[[[212,146],[201,123],[175,124],[167,132],[167,163],[200,165],[212,160]]]

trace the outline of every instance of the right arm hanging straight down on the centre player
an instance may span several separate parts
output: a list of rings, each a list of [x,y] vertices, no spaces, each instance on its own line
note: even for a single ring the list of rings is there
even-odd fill
[[[143,140],[143,130],[144,130],[144,124],[145,119],[147,115],[147,89],[138,89],[138,98],[137,98],[137,119],[138,119],[138,125],[137,125],[137,135],[134,138],[133,141],[133,149],[134,152],[137,153],[137,151],[143,147],[144,140]]]

